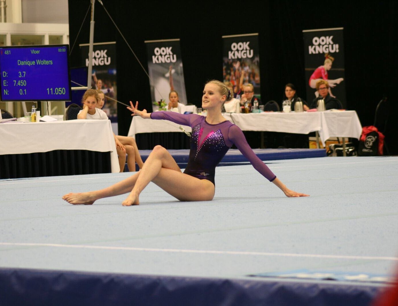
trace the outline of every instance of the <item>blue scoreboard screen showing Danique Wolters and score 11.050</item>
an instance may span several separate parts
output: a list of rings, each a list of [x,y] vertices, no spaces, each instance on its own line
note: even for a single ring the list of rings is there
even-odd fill
[[[0,101],[70,101],[69,46],[0,47]]]

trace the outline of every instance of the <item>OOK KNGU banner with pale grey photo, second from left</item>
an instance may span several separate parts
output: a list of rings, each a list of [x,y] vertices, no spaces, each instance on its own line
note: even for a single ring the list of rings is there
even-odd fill
[[[159,106],[154,105],[153,102],[164,100],[167,105],[171,90],[175,90],[178,93],[179,102],[186,105],[187,94],[179,39],[144,42],[148,53],[148,74],[153,111],[159,109]]]

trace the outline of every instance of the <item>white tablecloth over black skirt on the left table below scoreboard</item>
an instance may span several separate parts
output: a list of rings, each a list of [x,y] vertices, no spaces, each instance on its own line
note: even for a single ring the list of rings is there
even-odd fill
[[[0,155],[90,150],[111,152],[112,172],[119,172],[109,120],[68,120],[0,124]]]

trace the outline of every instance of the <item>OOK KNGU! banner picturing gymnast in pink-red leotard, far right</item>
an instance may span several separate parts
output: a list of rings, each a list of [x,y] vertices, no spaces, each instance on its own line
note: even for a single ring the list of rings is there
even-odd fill
[[[306,101],[311,103],[319,96],[315,84],[324,79],[329,84],[330,96],[336,97],[343,108],[345,96],[343,28],[304,30],[304,65]]]

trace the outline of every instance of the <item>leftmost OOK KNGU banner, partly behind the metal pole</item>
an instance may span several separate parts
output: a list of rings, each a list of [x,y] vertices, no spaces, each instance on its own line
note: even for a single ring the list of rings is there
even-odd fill
[[[82,66],[88,67],[89,44],[81,44],[79,46],[82,55]],[[112,123],[117,123],[115,42],[93,44],[91,88],[99,89],[105,94],[105,104],[102,110]]]

